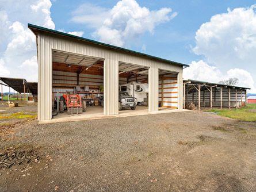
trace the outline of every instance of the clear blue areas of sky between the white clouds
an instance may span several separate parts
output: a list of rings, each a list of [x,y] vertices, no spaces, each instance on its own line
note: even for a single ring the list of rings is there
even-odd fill
[[[65,2],[65,3],[63,3]],[[77,9],[82,3],[89,2],[94,5],[111,9],[118,1],[54,1],[52,2],[51,16],[56,29],[67,31],[84,31],[83,37],[91,39],[93,29],[86,25],[70,22],[72,10]],[[170,7],[178,12],[178,16],[171,22],[159,25],[154,35],[145,33],[140,39],[139,45],[128,47],[136,51],[142,51],[143,44],[147,45],[146,52],[150,55],[164,57],[181,63],[190,64],[192,60],[201,59],[190,51],[190,45],[194,46],[194,36],[200,26],[211,19],[212,16],[227,12],[227,8],[248,7],[256,1],[137,1],[140,6],[150,10],[158,10],[162,7]]]

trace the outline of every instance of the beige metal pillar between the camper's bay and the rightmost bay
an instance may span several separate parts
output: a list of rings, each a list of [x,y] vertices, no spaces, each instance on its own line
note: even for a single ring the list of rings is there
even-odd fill
[[[148,70],[148,112],[158,111],[158,68],[156,65]]]

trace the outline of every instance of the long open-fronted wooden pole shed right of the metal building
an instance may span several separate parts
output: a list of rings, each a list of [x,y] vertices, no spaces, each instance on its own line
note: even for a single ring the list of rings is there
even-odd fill
[[[241,107],[246,103],[247,87],[222,85],[200,80],[184,80],[184,109],[193,103],[201,107]]]

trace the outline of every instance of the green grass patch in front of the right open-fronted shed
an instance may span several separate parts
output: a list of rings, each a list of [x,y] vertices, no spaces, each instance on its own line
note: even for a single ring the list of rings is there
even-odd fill
[[[212,109],[204,110],[204,112],[215,112],[219,113],[220,116],[241,121],[256,121],[256,104],[247,104],[238,109]]]

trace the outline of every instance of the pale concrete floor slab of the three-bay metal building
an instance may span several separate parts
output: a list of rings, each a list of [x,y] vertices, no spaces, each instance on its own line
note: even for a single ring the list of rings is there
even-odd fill
[[[158,114],[158,113],[172,113],[172,112],[184,112],[186,109],[167,109],[159,108],[158,112],[148,112],[148,107],[146,106],[137,106],[135,110],[129,108],[124,108],[119,111],[117,115],[104,116],[102,106],[88,106],[85,113],[82,114],[67,114],[59,113],[57,116],[54,116],[51,120],[39,121],[39,124],[51,124],[56,122],[70,122],[70,121],[81,121],[81,120],[96,120],[102,118],[116,118],[116,117],[129,117],[129,116],[143,116],[147,114]]]

